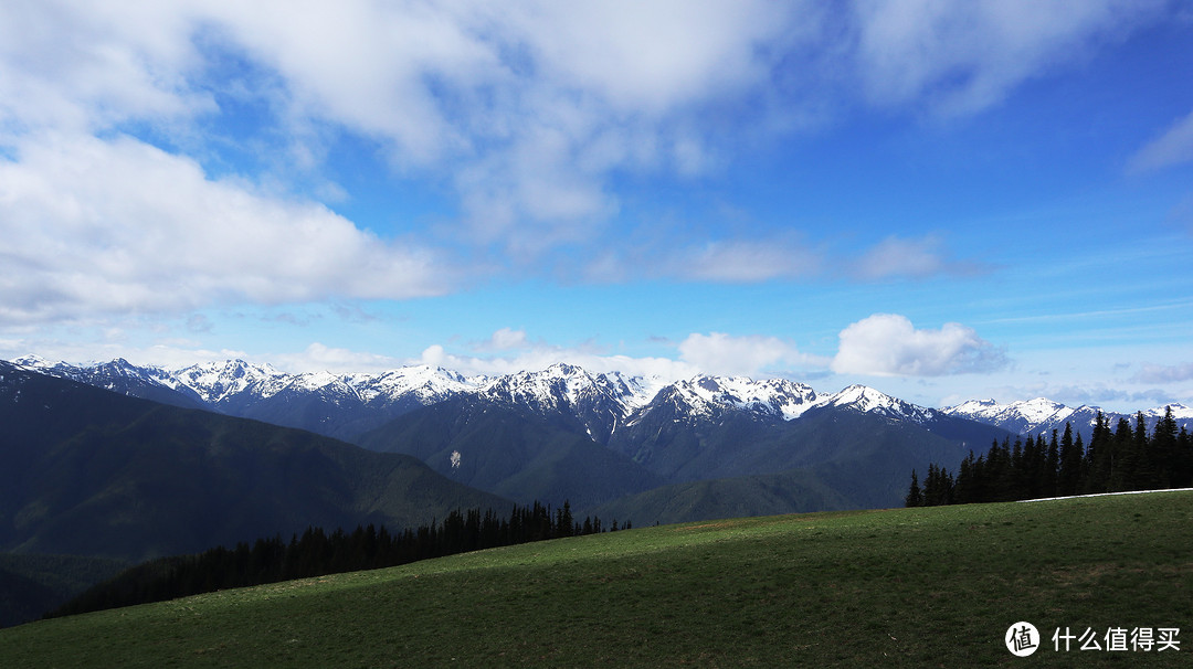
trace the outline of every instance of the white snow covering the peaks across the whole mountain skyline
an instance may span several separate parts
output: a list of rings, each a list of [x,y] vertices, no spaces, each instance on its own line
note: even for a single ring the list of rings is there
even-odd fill
[[[810,386],[786,379],[752,379],[747,377],[696,376],[670,383],[661,377],[625,376],[619,372],[594,373],[568,364],[556,364],[545,370],[524,371],[499,377],[464,377],[458,372],[427,365],[398,367],[382,373],[335,374],[308,372],[288,374],[270,365],[243,360],[227,360],[192,365],[181,370],[135,366],[123,359],[104,364],[70,365],[51,363],[37,355],[12,360],[23,367],[100,385],[115,385],[115,377],[140,378],[175,390],[190,389],[214,407],[233,398],[262,399],[285,389],[299,392],[324,392],[358,397],[365,403],[387,404],[414,399],[433,404],[459,394],[477,394],[490,399],[536,407],[540,410],[599,410],[606,421],[605,429],[633,425],[649,410],[651,402],[670,389],[669,398],[681,411],[710,416],[723,410],[754,411],[786,421],[796,420],[816,407],[852,408],[894,419],[925,422],[937,415],[928,409],[891,397],[865,385],[851,385],[839,392],[820,395]],[[1193,408],[1170,404],[1177,420],[1193,420]],[[971,399],[954,407],[939,409],[940,414],[965,417],[994,425],[1037,426],[1063,425],[1081,413],[1096,411],[1093,407],[1071,409],[1037,397],[1001,404],[994,399]],[[1164,407],[1149,409],[1144,415],[1156,419],[1164,415]],[[586,425],[592,430],[593,426]]]

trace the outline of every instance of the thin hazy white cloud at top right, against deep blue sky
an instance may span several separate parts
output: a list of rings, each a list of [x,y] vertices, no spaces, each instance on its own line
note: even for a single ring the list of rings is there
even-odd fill
[[[971,113],[1130,33],[1163,7],[1163,0],[858,1],[855,57],[876,104]]]

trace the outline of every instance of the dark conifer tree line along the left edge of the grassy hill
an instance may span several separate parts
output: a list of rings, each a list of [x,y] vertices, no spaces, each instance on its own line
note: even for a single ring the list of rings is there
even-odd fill
[[[620,529],[630,529],[625,522]],[[534,502],[513,507],[506,518],[493,509],[453,510],[443,521],[389,532],[385,526],[357,526],[332,533],[308,527],[290,541],[282,535],[241,541],[234,549],[217,546],[191,556],[154,559],[95,586],[48,613],[47,618],[74,615],[154,601],[165,601],[227,588],[245,588],[328,574],[396,566],[412,562],[481,549],[511,546],[561,537],[616,532],[617,520],[605,526],[599,518],[581,522],[571,506],[552,512]]]

